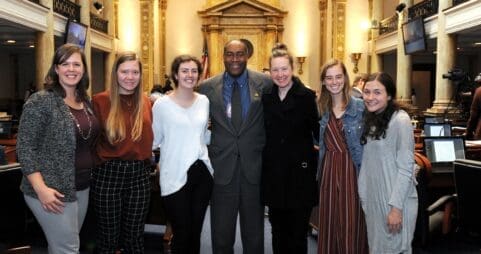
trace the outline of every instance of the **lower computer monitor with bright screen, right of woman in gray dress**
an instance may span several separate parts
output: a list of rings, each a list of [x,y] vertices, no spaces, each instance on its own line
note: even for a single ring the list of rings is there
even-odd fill
[[[464,139],[455,137],[425,137],[424,154],[431,163],[453,162],[464,159]]]

